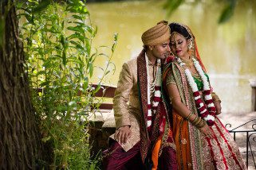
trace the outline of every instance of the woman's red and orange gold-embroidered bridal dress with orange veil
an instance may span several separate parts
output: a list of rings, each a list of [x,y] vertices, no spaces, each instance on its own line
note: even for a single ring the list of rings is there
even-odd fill
[[[206,73],[206,69],[199,56],[195,37],[186,25],[183,25],[183,27],[187,29],[187,32],[190,33],[194,41],[195,50],[192,56],[199,60],[199,64]],[[203,83],[202,79],[199,77],[196,77],[196,79],[195,83],[199,87],[199,91],[203,90],[202,84],[200,84]],[[167,64],[163,71],[163,86],[167,87],[170,83],[178,87],[180,98],[187,108],[199,116],[184,69],[175,59]],[[172,110],[172,126],[179,169],[246,169],[238,146],[218,117],[215,116],[215,124],[211,126],[214,137],[209,138],[205,137],[191,122],[182,118],[178,112],[179,110]]]

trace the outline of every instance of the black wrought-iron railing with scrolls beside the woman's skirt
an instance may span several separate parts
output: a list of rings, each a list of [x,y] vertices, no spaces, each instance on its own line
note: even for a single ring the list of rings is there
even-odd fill
[[[229,126],[229,127],[228,127]],[[247,126],[250,126],[250,128],[248,129]],[[226,129],[231,128],[231,124],[226,124]],[[246,128],[246,129],[243,129]],[[240,129],[240,130],[239,130]],[[252,160],[254,161],[254,166],[256,169],[256,162],[255,162],[255,158],[254,158],[254,154],[256,157],[256,118],[252,119],[240,126],[235,127],[234,129],[228,129],[228,131],[230,133],[233,133],[233,137],[234,137],[234,141],[236,140],[236,134],[237,133],[246,133],[246,167],[248,168],[248,164],[249,164],[249,154],[252,157]],[[254,143],[254,145],[252,145]],[[253,148],[253,146],[255,146]],[[250,149],[250,151],[249,151]],[[254,153],[255,152],[255,153]]]

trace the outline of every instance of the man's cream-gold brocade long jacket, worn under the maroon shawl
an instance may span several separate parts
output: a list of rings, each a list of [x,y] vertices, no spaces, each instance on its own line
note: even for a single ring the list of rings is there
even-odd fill
[[[156,65],[153,65],[150,60],[148,60],[148,68],[151,78],[150,82],[152,83],[156,76]],[[125,151],[132,149],[132,147],[140,141],[140,122],[142,118],[144,118],[140,110],[137,81],[137,58],[135,58],[124,63],[120,71],[119,81],[113,98],[116,129],[128,125],[132,131],[132,137],[128,139],[125,145],[122,145]],[[114,139],[114,134],[112,134],[111,138]]]

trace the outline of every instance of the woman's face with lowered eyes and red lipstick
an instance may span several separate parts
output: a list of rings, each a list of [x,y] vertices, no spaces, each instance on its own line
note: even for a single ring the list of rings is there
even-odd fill
[[[171,34],[171,52],[175,54],[175,56],[179,56],[180,58],[189,57],[188,53],[188,41],[185,37],[180,35],[179,33]]]

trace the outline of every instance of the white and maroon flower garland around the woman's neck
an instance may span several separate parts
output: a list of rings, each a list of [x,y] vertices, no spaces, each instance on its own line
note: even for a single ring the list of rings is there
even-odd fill
[[[203,97],[205,99],[205,103],[202,101],[199,93],[199,89],[195,83],[195,80],[193,79],[191,75],[191,71],[189,71],[188,68],[185,68],[185,74],[187,77],[187,81],[189,85],[191,86],[191,89],[193,91],[194,99],[195,99],[195,105],[197,109],[199,110],[199,115],[201,118],[203,118],[208,126],[213,126],[215,122],[215,105],[213,103],[213,99],[211,96],[211,88],[210,84],[207,80],[207,76],[204,74],[202,67],[200,66],[198,60],[195,60],[195,58],[192,58],[194,66],[196,71],[199,72],[199,75],[201,79],[203,80]],[[177,61],[180,66],[185,65],[180,58],[177,57]]]

